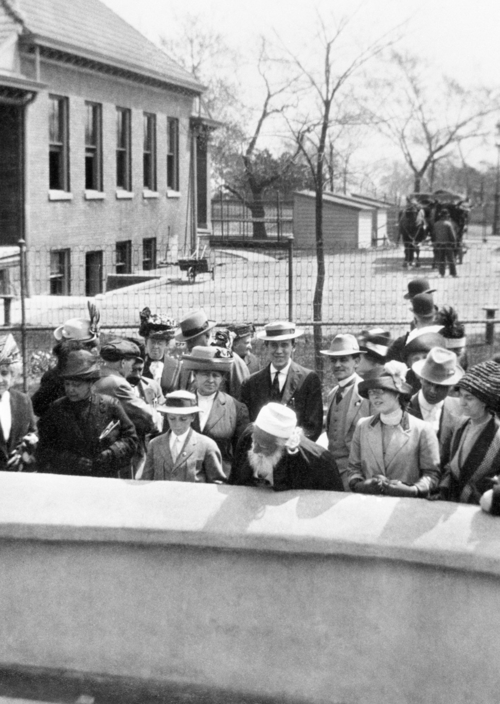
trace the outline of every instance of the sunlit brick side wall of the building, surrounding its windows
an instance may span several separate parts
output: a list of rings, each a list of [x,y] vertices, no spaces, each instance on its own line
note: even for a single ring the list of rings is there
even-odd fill
[[[31,58],[23,73],[35,78]],[[47,84],[27,110],[26,215],[31,293],[49,292],[49,249],[71,247],[71,294],[85,294],[85,252],[104,250],[104,271],[114,273],[116,241],[132,241],[132,270],[142,268],[142,239],[157,238],[157,258],[176,260],[183,249],[188,214],[190,163],[189,116],[193,98],[126,80],[42,61],[39,80]],[[49,99],[68,96],[70,182],[73,200],[49,201]],[[104,200],[85,199],[85,101],[102,103]],[[116,107],[130,108],[133,199],[116,198]],[[142,189],[143,113],[157,115],[157,193],[145,199]],[[166,189],[166,118],[179,119],[179,194]]]

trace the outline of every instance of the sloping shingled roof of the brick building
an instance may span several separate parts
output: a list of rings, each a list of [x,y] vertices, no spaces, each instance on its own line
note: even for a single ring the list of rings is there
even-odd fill
[[[0,0],[23,37],[164,83],[203,91],[195,78],[99,0]]]

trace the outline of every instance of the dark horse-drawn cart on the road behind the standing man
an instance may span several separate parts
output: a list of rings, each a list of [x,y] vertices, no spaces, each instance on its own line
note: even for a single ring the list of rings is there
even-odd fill
[[[405,248],[403,268],[420,267],[420,250],[426,246],[432,249],[434,222],[445,209],[455,226],[456,260],[462,263],[467,251],[463,235],[467,232],[470,202],[450,191],[434,191],[406,196],[406,208],[399,213],[398,242],[401,239]]]

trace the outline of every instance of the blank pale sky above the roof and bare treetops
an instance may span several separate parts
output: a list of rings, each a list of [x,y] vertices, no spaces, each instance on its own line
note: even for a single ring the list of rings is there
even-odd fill
[[[469,86],[500,86],[500,2],[498,0],[104,0],[149,39],[168,36],[173,18],[182,13],[200,18],[224,34],[229,46],[243,56],[255,57],[262,34],[281,41],[291,51],[306,44],[312,50],[316,11],[337,18],[356,11],[353,27],[360,45],[400,27],[398,49],[408,49],[435,65],[439,73]],[[254,61],[255,63],[255,61]],[[245,88],[251,80],[246,76]],[[259,85],[255,84],[257,90]],[[260,85],[262,89],[262,85]],[[247,101],[251,96],[245,96]],[[500,117],[500,115],[499,115]],[[498,118],[492,120],[492,125]],[[496,161],[494,134],[470,162]],[[472,145],[471,145],[472,146]]]

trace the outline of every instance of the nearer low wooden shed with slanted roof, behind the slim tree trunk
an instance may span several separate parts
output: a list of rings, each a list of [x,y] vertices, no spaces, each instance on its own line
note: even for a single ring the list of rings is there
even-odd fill
[[[293,238],[299,249],[316,243],[316,194],[293,194]],[[350,196],[323,194],[323,238],[327,249],[366,249],[372,246],[376,208]]]

